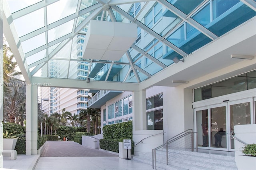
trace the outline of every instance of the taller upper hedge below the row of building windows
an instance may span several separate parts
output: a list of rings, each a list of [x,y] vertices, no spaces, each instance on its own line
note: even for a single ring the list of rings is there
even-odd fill
[[[106,125],[102,130],[104,139],[132,139],[132,121]]]

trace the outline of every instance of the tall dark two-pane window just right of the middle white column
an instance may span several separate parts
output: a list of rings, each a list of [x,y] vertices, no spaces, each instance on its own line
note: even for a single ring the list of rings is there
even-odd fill
[[[147,130],[163,130],[163,94],[146,100]]]

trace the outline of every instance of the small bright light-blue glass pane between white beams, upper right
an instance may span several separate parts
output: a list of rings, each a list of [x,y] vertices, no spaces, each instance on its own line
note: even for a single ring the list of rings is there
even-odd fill
[[[201,24],[202,26],[206,26],[210,21],[210,4],[205,6],[202,10],[200,10],[196,15],[192,17],[196,22]]]

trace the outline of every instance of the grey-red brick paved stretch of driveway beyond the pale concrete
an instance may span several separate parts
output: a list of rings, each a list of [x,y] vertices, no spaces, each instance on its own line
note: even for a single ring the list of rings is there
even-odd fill
[[[74,141],[47,141],[42,157],[102,157],[118,156],[98,149],[88,148]]]

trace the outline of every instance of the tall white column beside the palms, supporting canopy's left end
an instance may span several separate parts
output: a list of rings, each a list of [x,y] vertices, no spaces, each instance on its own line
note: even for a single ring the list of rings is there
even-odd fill
[[[37,87],[26,87],[26,155],[37,154]]]

